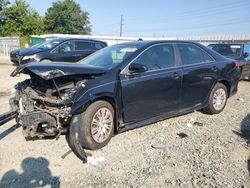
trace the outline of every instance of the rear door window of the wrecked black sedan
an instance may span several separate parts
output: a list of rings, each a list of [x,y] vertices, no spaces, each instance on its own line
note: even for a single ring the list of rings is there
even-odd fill
[[[214,61],[205,51],[193,44],[177,44],[182,65],[192,65]]]

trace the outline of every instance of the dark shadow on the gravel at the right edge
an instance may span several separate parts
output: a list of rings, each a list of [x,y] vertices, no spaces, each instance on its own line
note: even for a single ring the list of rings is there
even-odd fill
[[[244,138],[247,142],[247,144],[250,144],[250,114],[248,114],[242,121],[240,125],[240,131],[235,131],[233,132],[240,136],[241,138]],[[247,161],[247,169],[250,175],[250,156]]]

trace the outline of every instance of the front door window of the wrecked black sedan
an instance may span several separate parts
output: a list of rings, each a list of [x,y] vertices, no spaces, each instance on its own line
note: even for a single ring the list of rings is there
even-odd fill
[[[144,51],[134,63],[145,65],[148,70],[160,70],[175,66],[172,44],[161,44]]]

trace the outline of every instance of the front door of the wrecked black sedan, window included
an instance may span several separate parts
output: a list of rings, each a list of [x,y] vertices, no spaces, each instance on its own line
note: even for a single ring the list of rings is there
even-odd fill
[[[154,45],[132,63],[148,67],[144,73],[121,74],[123,117],[134,122],[179,110],[181,71],[172,44]]]

